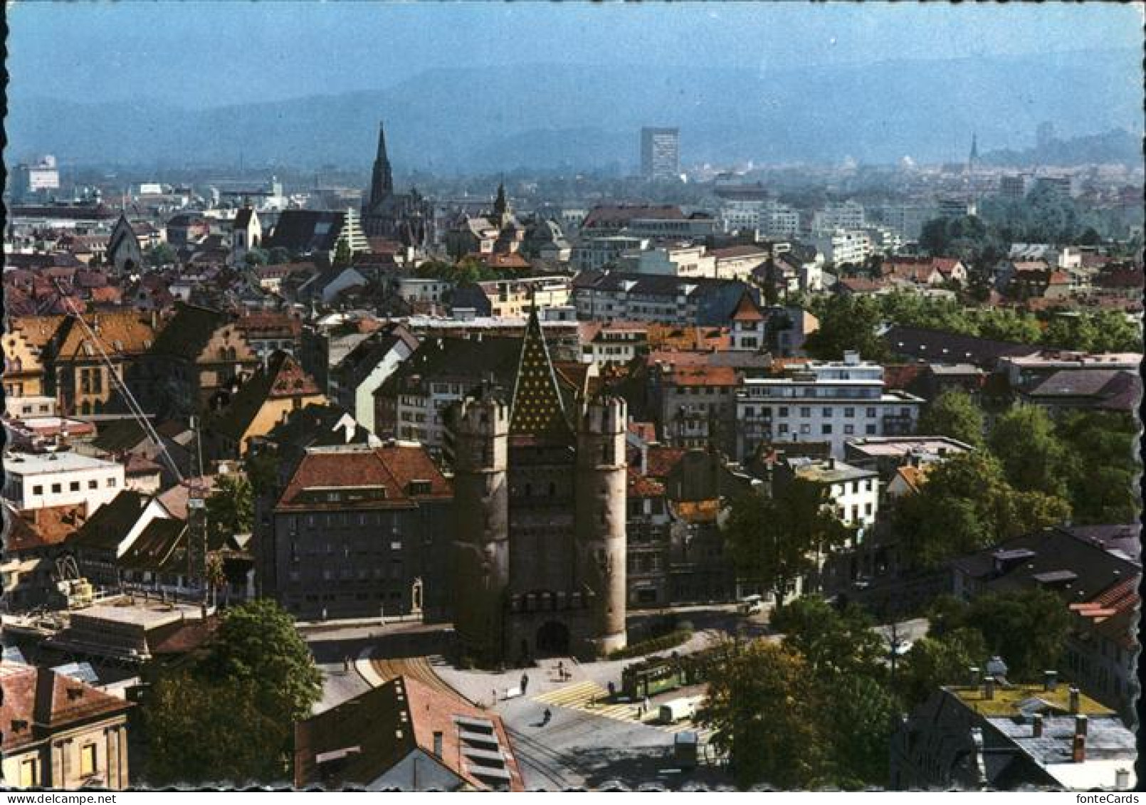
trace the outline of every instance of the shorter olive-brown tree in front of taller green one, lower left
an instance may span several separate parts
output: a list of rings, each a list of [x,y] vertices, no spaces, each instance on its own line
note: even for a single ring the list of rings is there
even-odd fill
[[[249,683],[167,672],[142,708],[147,735],[143,777],[151,786],[246,784],[284,779],[283,747],[291,725],[260,712]]]

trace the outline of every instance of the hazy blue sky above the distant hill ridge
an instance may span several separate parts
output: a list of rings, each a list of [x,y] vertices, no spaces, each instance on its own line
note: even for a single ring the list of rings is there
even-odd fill
[[[1141,13],[959,5],[17,2],[9,92],[188,107],[371,89],[435,67],[784,69],[1139,47]]]

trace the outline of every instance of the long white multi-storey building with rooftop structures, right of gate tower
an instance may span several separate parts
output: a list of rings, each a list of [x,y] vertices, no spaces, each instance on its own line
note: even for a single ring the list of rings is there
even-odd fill
[[[855,436],[915,431],[924,400],[884,388],[884,367],[849,352],[842,361],[811,361],[774,377],[746,377],[737,391],[737,456],[762,443],[822,441],[843,456]]]

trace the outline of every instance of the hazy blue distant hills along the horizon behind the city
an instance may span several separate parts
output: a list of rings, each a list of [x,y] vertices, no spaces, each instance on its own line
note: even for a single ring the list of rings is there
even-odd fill
[[[386,89],[205,111],[162,96],[72,103],[10,86],[6,158],[182,165],[242,153],[248,165],[367,166],[384,118],[401,170],[630,170],[642,125],[680,126],[685,164],[961,161],[972,131],[997,151],[1022,148],[1047,119],[1077,122],[1067,135],[1140,128],[1141,84],[1127,80],[1139,63],[1137,52],[1110,50],[776,71],[439,69]]]

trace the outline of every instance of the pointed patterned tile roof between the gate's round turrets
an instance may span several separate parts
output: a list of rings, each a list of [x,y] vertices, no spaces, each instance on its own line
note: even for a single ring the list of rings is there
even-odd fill
[[[509,433],[545,441],[573,440],[535,305],[529,312],[529,323],[521,343]]]

